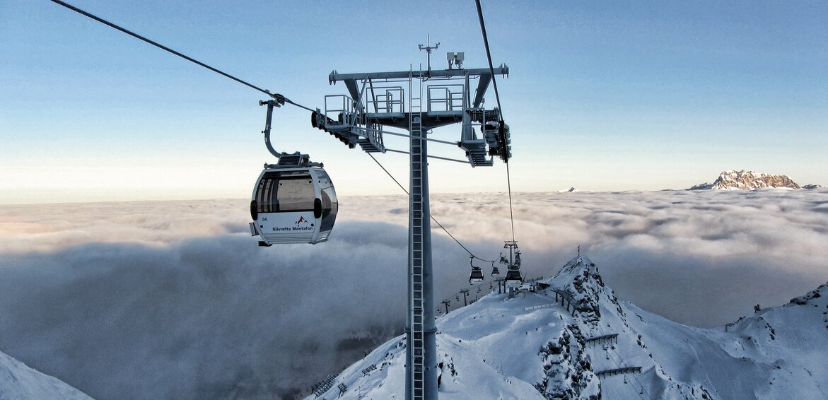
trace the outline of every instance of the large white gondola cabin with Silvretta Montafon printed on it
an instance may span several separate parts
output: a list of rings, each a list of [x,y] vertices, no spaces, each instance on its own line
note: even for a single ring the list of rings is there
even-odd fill
[[[334,228],[339,209],[334,185],[319,164],[303,156],[300,161],[282,157],[258,178],[250,201],[250,234],[261,238],[260,246],[325,242]]]

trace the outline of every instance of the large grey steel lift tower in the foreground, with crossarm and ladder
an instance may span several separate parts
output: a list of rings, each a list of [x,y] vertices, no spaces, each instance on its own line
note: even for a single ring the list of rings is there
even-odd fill
[[[436,50],[436,49],[435,49]],[[483,107],[493,75],[508,66],[462,69],[463,53],[449,53],[447,70],[407,70],[328,76],[343,82],[347,95],[325,96],[325,110],[311,118],[315,128],[364,152],[409,154],[408,306],[406,328],[406,399],[436,399],[439,369],[431,265],[431,213],[428,191],[428,142],[460,147],[471,166],[492,166],[493,158],[511,157],[508,125],[498,108]],[[457,62],[460,60],[460,62]],[[458,68],[451,68],[452,65]],[[476,84],[476,86],[474,86]],[[460,123],[460,140],[428,137],[431,129]],[[406,134],[388,131],[397,128]],[[408,151],[385,147],[383,135],[409,137]],[[443,158],[444,157],[436,157]],[[454,160],[458,161],[458,160]]]

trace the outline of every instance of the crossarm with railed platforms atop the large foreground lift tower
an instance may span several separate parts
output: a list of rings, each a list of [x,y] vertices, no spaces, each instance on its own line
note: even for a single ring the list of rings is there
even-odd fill
[[[328,76],[330,84],[343,82],[349,95],[325,96],[325,110],[314,114],[313,126],[325,130],[349,147],[365,152],[386,152],[384,128],[410,131],[410,122],[419,119],[419,128],[431,129],[460,123],[460,141],[471,166],[492,166],[512,156],[508,125],[498,108],[483,107],[484,95],[494,75],[508,76],[508,66],[495,69],[449,69],[365,72]],[[478,80],[476,84],[472,81]],[[425,93],[409,94],[412,81]],[[427,82],[427,84],[426,84]],[[475,88],[476,86],[476,88]],[[413,102],[416,102],[414,104]],[[426,140],[428,140],[426,138]]]

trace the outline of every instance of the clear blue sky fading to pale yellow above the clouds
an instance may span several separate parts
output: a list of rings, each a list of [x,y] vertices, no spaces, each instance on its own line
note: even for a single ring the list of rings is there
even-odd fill
[[[71,3],[311,107],[345,94],[331,70],[425,64],[426,35],[433,67],[445,51],[485,66],[472,1]],[[828,3],[482,3],[511,72],[513,190],[678,189],[729,169],[828,184]],[[0,3],[0,52],[0,203],[243,198],[272,161],[258,92],[52,2]],[[325,162],[339,195],[398,193],[309,120],[278,109],[277,147]],[[407,157],[380,160],[407,178]],[[431,176],[434,192],[506,190],[502,164]]]

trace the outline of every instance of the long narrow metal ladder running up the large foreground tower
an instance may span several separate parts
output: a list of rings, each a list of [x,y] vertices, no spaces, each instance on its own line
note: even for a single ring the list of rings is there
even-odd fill
[[[425,385],[426,385],[426,365],[425,365],[425,356],[426,356],[426,327],[425,327],[425,320],[423,318],[423,311],[425,311],[424,304],[423,304],[423,259],[424,259],[424,238],[422,227],[423,219],[428,218],[427,215],[423,213],[423,163],[426,160],[422,159],[422,146],[425,143],[425,140],[418,139],[418,137],[423,137],[425,134],[422,130],[422,88],[420,88],[419,97],[414,97],[412,87],[412,79],[409,78],[408,80],[408,104],[410,108],[410,113],[408,114],[408,130],[411,134],[412,142],[411,142],[411,157],[412,157],[412,171],[411,171],[411,240],[412,240],[412,253],[409,257],[412,258],[412,329],[410,335],[412,335],[412,359],[408,360],[412,363],[412,393],[411,398],[412,400],[419,400],[425,398]]]

